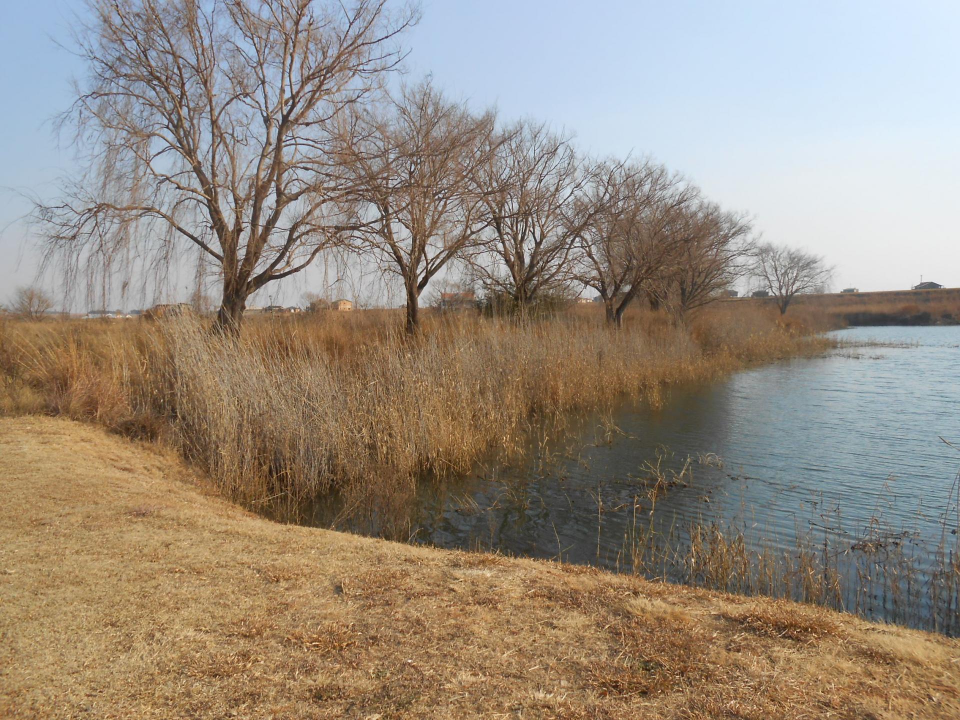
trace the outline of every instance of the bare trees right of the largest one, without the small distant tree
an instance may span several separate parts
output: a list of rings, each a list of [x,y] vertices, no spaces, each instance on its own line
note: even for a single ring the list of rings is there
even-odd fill
[[[652,161],[591,160],[532,121],[498,128],[429,82],[351,121],[348,243],[399,277],[411,331],[453,262],[521,313],[587,286],[613,324],[641,293],[682,315],[746,268],[749,223]]]

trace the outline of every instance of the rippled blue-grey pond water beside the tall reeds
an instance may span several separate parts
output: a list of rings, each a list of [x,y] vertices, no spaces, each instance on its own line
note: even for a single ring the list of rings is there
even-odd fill
[[[478,471],[440,488],[425,483],[413,537],[689,580],[689,566],[656,573],[636,566],[637,528],[656,527],[667,544],[689,543],[691,524],[713,523],[742,533],[748,550],[759,552],[762,539],[766,551],[787,557],[799,541],[826,537],[828,555],[852,563],[847,572],[862,572],[852,555],[876,549],[869,541],[880,539],[885,550],[905,553],[917,573],[902,582],[920,582],[942,540],[960,467],[960,453],[940,439],[960,441],[960,327],[837,335],[885,345],[674,389],[660,410],[613,418],[621,432],[611,442],[603,423],[586,421],[579,437],[526,467]],[[722,458],[722,467],[698,461],[707,453]],[[682,473],[682,481],[654,504],[648,464],[658,456],[660,470],[668,478]],[[955,515],[948,528],[956,528]],[[898,619],[870,592],[835,604]]]

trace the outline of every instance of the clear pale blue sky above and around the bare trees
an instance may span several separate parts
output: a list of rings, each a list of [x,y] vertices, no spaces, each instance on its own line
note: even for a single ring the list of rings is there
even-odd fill
[[[84,69],[58,46],[79,8],[3,9],[0,302],[36,273],[22,195],[54,197],[71,167],[50,119]],[[407,36],[411,80],[432,73],[451,96],[548,121],[598,156],[653,156],[749,213],[764,240],[824,255],[835,289],[921,276],[960,286],[960,3],[425,0],[422,11]],[[311,281],[277,296],[295,301]]]

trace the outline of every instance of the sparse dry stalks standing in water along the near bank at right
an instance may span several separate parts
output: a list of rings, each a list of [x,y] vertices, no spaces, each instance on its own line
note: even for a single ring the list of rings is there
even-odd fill
[[[798,521],[787,540],[745,521],[657,516],[658,499],[684,481],[689,466],[668,477],[659,462],[647,464],[649,486],[626,508],[632,518],[615,560],[619,569],[960,636],[960,472],[936,537],[892,527],[876,509],[862,527],[847,529],[836,509],[805,526]]]

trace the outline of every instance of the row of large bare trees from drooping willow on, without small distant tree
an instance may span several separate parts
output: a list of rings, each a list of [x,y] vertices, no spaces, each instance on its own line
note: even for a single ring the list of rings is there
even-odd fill
[[[84,172],[37,203],[68,279],[216,268],[221,329],[328,251],[402,283],[407,328],[454,265],[524,312],[586,286],[620,324],[637,298],[677,317],[750,267],[748,220],[651,160],[385,79],[418,19],[388,0],[86,0],[88,70],[60,118]],[[784,308],[785,309],[785,308]]]

